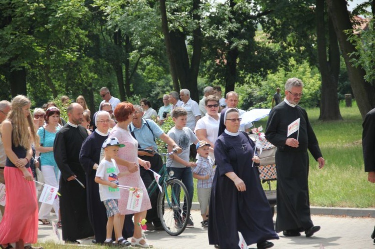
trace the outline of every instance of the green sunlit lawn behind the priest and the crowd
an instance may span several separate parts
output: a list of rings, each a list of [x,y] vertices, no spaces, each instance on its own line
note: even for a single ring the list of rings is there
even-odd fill
[[[319,109],[307,109],[309,121],[318,139],[325,166],[318,169],[310,155],[310,205],[319,207],[375,208],[374,185],[367,182],[363,169],[362,118],[353,102],[352,107],[340,105],[343,120],[319,121]],[[266,118],[255,123],[266,127]],[[194,182],[196,186],[196,182]],[[276,188],[276,183],[272,183]],[[268,186],[263,184],[263,188]],[[193,201],[196,202],[196,189]]]

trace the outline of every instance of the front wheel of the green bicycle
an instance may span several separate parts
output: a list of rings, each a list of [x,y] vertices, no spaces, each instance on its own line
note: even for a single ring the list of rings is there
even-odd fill
[[[169,235],[180,235],[186,228],[190,216],[189,194],[185,185],[170,179],[163,186],[157,198],[157,214],[161,225]]]

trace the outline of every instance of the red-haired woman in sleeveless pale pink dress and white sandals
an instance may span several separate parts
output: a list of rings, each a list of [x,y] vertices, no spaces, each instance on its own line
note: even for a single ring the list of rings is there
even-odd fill
[[[109,138],[116,137],[121,144],[125,147],[120,148],[118,151],[118,157],[115,158],[120,172],[129,172],[126,177],[119,178],[119,185],[136,187],[143,190],[143,198],[139,212],[127,210],[127,200],[129,198],[129,191],[121,189],[121,198],[118,200],[118,208],[121,215],[134,214],[134,233],[131,239],[131,245],[141,248],[152,247],[142,239],[141,228],[138,226],[138,222],[145,218],[147,210],[151,208],[151,203],[147,195],[147,189],[145,188],[142,179],[139,175],[139,165],[145,169],[150,168],[150,164],[147,161],[138,158],[138,142],[131,136],[128,131],[128,125],[133,120],[134,107],[131,103],[121,102],[114,109],[114,116],[116,117],[117,124],[113,127],[109,133]],[[129,163],[131,162],[131,163]],[[123,216],[122,216],[123,217]],[[122,219],[123,225],[123,219]]]

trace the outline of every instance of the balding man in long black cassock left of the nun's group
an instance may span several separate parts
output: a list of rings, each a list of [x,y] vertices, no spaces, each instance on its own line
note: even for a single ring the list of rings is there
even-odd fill
[[[67,107],[68,122],[56,134],[53,156],[61,171],[59,183],[62,240],[78,243],[76,240],[93,236],[88,220],[85,174],[79,163],[79,151],[87,131],[79,124],[83,120],[83,108],[77,103]],[[76,181],[78,180],[78,181]]]

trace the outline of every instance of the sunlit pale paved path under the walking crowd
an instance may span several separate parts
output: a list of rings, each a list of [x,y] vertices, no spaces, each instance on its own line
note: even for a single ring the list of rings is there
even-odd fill
[[[147,240],[155,249],[213,249],[208,245],[207,229],[200,227],[199,211],[192,211],[194,228],[186,228],[179,236],[169,236],[165,232],[145,232]],[[275,220],[276,216],[273,217]],[[321,226],[321,230],[311,238],[283,237],[273,240],[275,249],[375,249],[370,234],[375,225],[375,218],[352,218],[339,216],[313,215],[314,225]],[[51,215],[51,220],[55,216]],[[61,232],[61,230],[59,230]],[[39,225],[39,242],[53,240],[58,243],[52,234],[51,226]],[[91,244],[91,239],[81,240],[82,244]],[[61,243],[61,242],[60,242]],[[249,245],[249,249],[256,249],[256,245]]]

